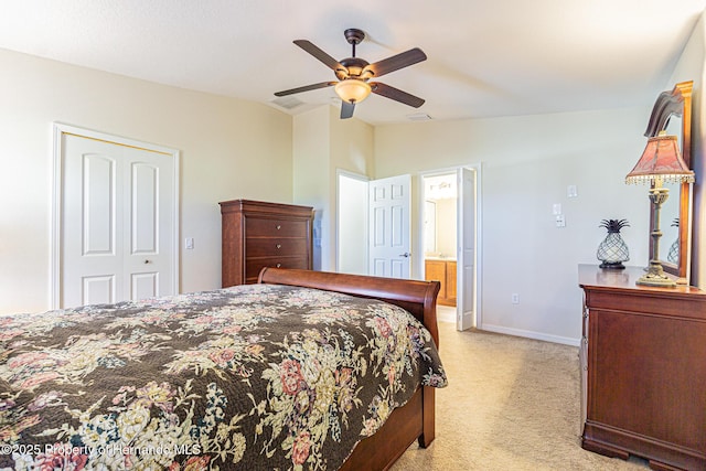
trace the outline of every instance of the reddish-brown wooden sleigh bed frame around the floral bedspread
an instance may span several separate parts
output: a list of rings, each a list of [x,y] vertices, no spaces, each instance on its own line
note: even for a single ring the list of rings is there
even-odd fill
[[[284,268],[263,268],[258,282],[300,286],[338,291],[360,298],[379,299],[399,306],[429,330],[439,346],[437,327],[438,281],[402,280],[361,275]],[[393,411],[385,425],[355,446],[341,470],[386,470],[417,440],[427,448],[435,438],[435,388],[422,386]]]

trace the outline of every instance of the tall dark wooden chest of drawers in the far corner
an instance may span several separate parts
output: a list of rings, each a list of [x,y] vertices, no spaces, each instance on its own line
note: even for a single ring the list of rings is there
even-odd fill
[[[224,288],[256,282],[264,267],[312,268],[312,207],[249,200],[218,204]]]

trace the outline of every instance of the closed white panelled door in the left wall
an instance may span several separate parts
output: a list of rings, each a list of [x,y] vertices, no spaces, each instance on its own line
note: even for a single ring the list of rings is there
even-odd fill
[[[178,291],[173,154],[61,133],[61,308]]]

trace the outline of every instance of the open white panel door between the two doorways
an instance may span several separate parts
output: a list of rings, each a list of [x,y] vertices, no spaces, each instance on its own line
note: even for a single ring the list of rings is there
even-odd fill
[[[410,278],[411,176],[373,180],[368,185],[368,271]]]

